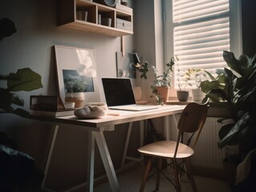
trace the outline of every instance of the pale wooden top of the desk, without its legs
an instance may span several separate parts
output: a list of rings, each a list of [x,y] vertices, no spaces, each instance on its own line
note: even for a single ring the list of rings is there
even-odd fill
[[[105,115],[102,118],[95,119],[81,119],[77,118],[74,115],[63,116],[58,118],[52,117],[34,117],[36,119],[47,121],[47,122],[56,122],[65,123],[75,126],[84,126],[93,130],[100,130],[106,126],[115,126],[118,124],[126,122],[136,122],[148,118],[159,118],[171,114],[181,114],[184,110],[185,105],[165,105],[160,106],[157,109],[153,110],[142,110],[142,111],[128,111],[128,110],[108,110],[108,114],[119,114],[117,116]]]

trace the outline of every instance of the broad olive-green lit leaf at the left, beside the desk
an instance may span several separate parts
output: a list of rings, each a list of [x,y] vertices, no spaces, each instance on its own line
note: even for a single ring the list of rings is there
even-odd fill
[[[42,88],[43,85],[39,74],[30,70],[30,68],[24,68],[17,70],[16,74],[10,73],[10,78],[7,80],[7,87],[10,91],[30,91]]]

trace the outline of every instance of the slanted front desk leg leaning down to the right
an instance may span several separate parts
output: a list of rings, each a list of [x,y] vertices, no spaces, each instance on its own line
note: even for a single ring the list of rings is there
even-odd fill
[[[111,191],[112,192],[120,192],[120,186],[116,178],[116,172],[114,169],[114,166],[112,164],[112,159],[110,157],[109,151],[108,151],[108,146],[106,143],[106,140],[104,138],[104,133],[103,132],[96,132],[93,131],[91,134],[94,134],[95,140],[97,142],[97,145],[100,150],[100,156],[101,159],[104,163],[104,167],[108,176],[108,182],[111,186]]]

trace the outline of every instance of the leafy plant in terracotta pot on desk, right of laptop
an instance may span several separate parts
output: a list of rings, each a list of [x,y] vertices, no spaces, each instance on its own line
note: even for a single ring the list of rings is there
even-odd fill
[[[170,61],[165,65],[165,71],[161,75],[158,74],[156,67],[152,66],[152,70],[154,72],[154,81],[151,86],[153,94],[151,97],[154,96],[156,98],[156,104],[164,105],[165,101],[168,100],[169,87],[172,83],[174,63],[174,58],[172,57]]]

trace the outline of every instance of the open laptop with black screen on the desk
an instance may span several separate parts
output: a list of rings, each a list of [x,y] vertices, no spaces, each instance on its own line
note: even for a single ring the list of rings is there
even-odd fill
[[[110,110],[152,110],[159,106],[137,105],[130,78],[101,78]]]

